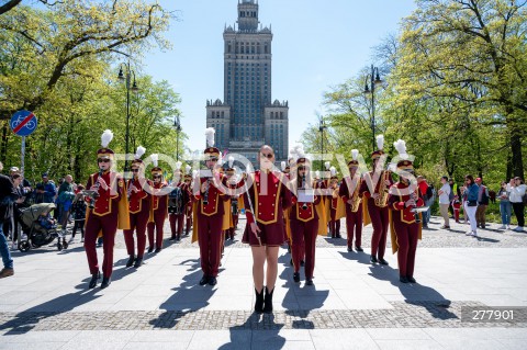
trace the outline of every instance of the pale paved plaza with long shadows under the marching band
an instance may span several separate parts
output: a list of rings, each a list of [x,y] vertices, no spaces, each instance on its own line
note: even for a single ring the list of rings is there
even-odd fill
[[[276,312],[265,316],[251,314],[250,250],[237,242],[227,241],[214,287],[198,284],[199,250],[189,238],[148,255],[138,270],[125,269],[126,251],[115,249],[106,290],[87,289],[80,244],[16,252],[15,275],[0,281],[0,349],[524,349],[525,318],[460,317],[463,306],[527,306],[527,235],[482,232],[476,248],[474,238],[438,226],[433,219],[424,237],[437,247],[419,241],[417,284],[399,282],[390,249],[389,267],[371,266],[369,249],[348,252],[345,239],[323,237],[315,285],[304,285],[302,271],[295,284],[281,249]],[[513,240],[514,248],[494,248]]]

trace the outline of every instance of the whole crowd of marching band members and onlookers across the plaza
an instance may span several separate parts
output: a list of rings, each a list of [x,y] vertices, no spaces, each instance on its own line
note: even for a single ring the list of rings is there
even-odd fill
[[[347,163],[349,174],[339,179],[328,163],[329,178],[312,171],[311,160],[300,148],[291,151],[289,162],[282,162],[282,171],[279,171],[274,168],[274,151],[268,145],[258,151],[259,170],[240,173],[237,172],[239,168],[234,167],[234,158],[224,162],[221,151],[214,147],[214,131],[208,129],[206,135],[205,173],[198,174],[197,170],[191,173],[190,166],[183,170],[178,161],[171,181],[164,178],[157,155],[150,155],[154,167],[149,176],[145,173],[145,163],[141,159],[145,153],[143,147],[137,149],[131,162],[130,179],[115,172],[114,153],[108,148],[113,137],[110,131],[104,132],[102,148],[97,151],[99,171],[90,174],[86,188],[75,184],[72,177],[66,176],[57,190],[44,173],[43,181],[33,191],[18,169],[12,168],[10,177],[0,177],[0,214],[3,222],[11,225],[8,228],[0,225],[0,251],[4,263],[0,276],[14,273],[5,234],[10,229],[15,240],[14,213],[18,206],[27,204],[29,193],[34,193],[34,203],[55,203],[58,207],[55,218],[42,217],[40,225],[65,232],[66,226],[75,222],[71,239],[77,229],[81,230],[91,274],[90,289],[96,287],[101,278],[101,289],[111,284],[117,229],[124,233],[128,255],[125,267],[138,269],[145,253],[157,253],[164,248],[167,218],[170,240],[179,241],[183,232],[190,235],[192,227],[192,241],[199,242],[203,271],[199,284],[215,285],[225,240],[234,239],[238,215],[244,212],[247,224],[242,240],[250,246],[253,253],[255,311],[258,313],[272,312],[279,247],[287,244],[290,248],[293,281],[300,283],[303,267],[305,284],[313,285],[316,237],[328,232],[332,237],[340,237],[343,217],[347,224],[349,252],[363,251],[362,227],[372,224],[372,264],[389,264],[384,255],[390,232],[392,251],[397,253],[401,283],[416,283],[417,241],[422,229],[429,223],[436,197],[445,219],[444,229],[450,228],[449,211],[459,223],[461,208],[471,225],[468,235],[478,236],[478,227],[485,228],[486,225],[485,210],[491,195],[482,180],[468,174],[464,184],[458,187],[452,179],[442,177],[441,187],[436,192],[424,177],[415,177],[413,159],[406,154],[404,140],[394,143],[399,155],[392,159],[391,168],[384,169],[386,155],[383,137],[379,135],[378,149],[371,154],[371,171],[363,174],[358,170],[359,151],[354,149]],[[394,172],[399,176],[396,182],[392,177]],[[523,230],[525,190],[520,178],[502,183],[496,193],[501,201],[502,228],[509,228],[512,207],[518,221],[515,230]],[[102,266],[96,250],[98,245],[103,247]]]

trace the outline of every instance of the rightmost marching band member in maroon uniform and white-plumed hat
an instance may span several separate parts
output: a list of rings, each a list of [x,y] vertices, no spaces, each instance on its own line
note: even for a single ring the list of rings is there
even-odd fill
[[[393,143],[400,156],[397,173],[400,181],[390,188],[389,206],[392,211],[390,228],[393,253],[397,252],[399,280],[402,283],[416,283],[414,279],[415,251],[417,239],[422,238],[421,213],[413,210],[423,206],[424,202],[418,195],[414,167],[406,154],[406,144],[399,139]],[[413,181],[411,182],[411,179]]]

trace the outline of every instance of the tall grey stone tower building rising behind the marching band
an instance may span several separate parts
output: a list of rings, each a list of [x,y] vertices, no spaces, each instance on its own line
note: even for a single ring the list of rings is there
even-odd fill
[[[225,26],[223,102],[206,101],[206,127],[214,127],[223,153],[250,161],[261,145],[274,149],[276,160],[288,158],[288,102],[271,99],[270,27],[258,21],[258,1],[238,0],[237,26]]]

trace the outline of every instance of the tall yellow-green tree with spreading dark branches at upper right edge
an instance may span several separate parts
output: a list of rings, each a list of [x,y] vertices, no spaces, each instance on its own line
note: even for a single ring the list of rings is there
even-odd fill
[[[492,143],[502,142],[497,149],[505,146],[511,150],[507,173],[523,177],[526,2],[418,0],[417,4],[403,21],[401,55],[393,77],[397,104],[426,99],[450,104],[453,115],[464,114],[470,125],[482,127],[480,136],[498,135]],[[469,143],[468,147],[478,156],[484,155],[478,144]]]

